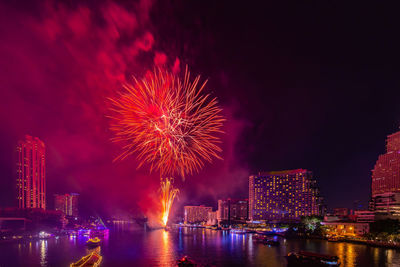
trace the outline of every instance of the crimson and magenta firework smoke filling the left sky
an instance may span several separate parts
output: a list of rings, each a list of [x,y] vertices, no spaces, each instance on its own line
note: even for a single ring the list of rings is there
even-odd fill
[[[0,156],[2,186],[10,188],[0,200],[13,204],[10,155],[17,139],[31,134],[46,144],[50,207],[53,193],[78,192],[87,211],[157,213],[159,177],[137,170],[134,158],[112,163],[120,147],[110,142],[106,117],[107,98],[132,75],[154,65],[181,70],[179,58],[157,48],[151,8],[148,0],[0,4]],[[224,160],[185,182],[175,179],[181,189],[176,209],[214,203],[247,182],[247,168],[234,156],[245,123],[234,118],[234,108],[224,110]]]

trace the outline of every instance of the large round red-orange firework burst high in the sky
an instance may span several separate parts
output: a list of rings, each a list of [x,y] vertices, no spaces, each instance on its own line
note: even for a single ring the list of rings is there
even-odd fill
[[[183,79],[155,69],[143,79],[134,78],[113,103],[111,130],[114,141],[124,142],[117,159],[136,154],[138,167],[149,164],[160,176],[198,172],[204,162],[219,158],[224,118],[216,98],[202,94],[207,81]]]

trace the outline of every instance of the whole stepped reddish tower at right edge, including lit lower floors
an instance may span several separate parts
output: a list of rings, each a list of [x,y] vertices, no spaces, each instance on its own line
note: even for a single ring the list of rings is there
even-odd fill
[[[400,216],[400,131],[386,139],[386,153],[372,170],[371,209],[377,219]]]

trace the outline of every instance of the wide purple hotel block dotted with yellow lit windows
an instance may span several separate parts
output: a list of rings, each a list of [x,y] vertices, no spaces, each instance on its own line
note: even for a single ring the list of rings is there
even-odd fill
[[[297,221],[321,215],[322,198],[312,172],[260,172],[249,177],[249,220]]]

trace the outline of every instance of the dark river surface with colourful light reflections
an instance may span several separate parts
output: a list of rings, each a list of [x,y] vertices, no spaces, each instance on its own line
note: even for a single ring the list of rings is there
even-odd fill
[[[276,237],[277,238],[277,237]],[[0,243],[0,267],[69,266],[89,251],[87,237],[62,236],[47,240]],[[324,240],[279,238],[279,247],[253,242],[252,234],[231,234],[208,229],[175,228],[170,231],[111,230],[103,240],[101,266],[175,266],[188,255],[200,266],[286,266],[291,251],[334,254],[342,266],[400,266],[400,251]]]

